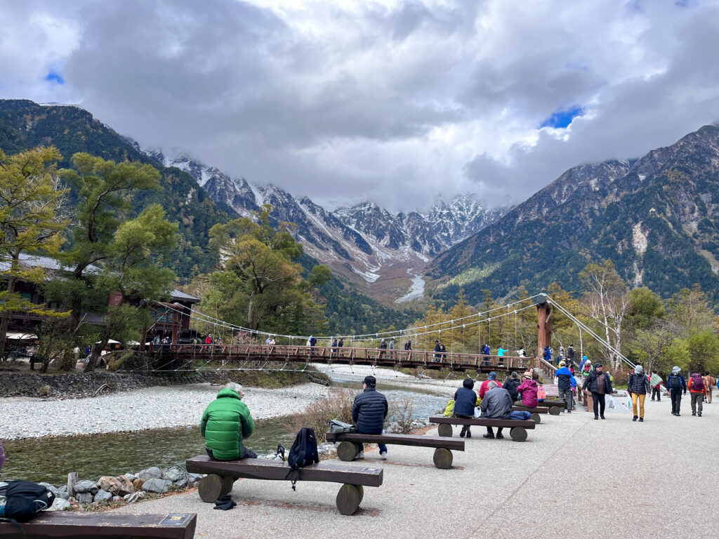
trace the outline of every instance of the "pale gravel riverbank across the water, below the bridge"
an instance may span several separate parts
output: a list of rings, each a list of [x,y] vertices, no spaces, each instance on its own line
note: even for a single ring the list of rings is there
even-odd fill
[[[0,399],[0,433],[7,439],[39,438],[198,425],[205,407],[220,389],[192,384],[147,387],[87,399],[4,398]],[[318,384],[275,390],[245,387],[244,402],[253,418],[276,418],[324,397],[328,390]]]

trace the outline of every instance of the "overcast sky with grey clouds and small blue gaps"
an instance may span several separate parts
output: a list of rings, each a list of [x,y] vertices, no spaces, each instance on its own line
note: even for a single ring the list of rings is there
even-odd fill
[[[519,203],[719,119],[719,1],[0,0],[0,98],[326,206]]]

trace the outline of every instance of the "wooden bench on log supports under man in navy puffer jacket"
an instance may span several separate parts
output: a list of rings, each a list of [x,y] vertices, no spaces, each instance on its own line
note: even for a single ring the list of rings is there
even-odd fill
[[[357,434],[326,433],[328,442],[339,442],[337,456],[341,461],[351,461],[362,450],[362,443],[385,443],[395,446],[434,447],[434,466],[442,470],[452,468],[452,449],[464,451],[464,440],[447,440],[441,436],[418,436],[416,434]]]

